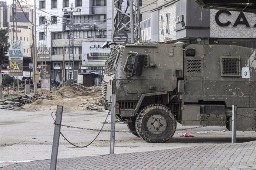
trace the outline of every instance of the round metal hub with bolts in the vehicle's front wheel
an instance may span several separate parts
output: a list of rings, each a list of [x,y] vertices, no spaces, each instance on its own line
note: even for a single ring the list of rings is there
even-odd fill
[[[167,128],[167,120],[165,120],[162,115],[152,115],[147,120],[147,129],[150,133],[154,135],[159,135],[164,133]]]

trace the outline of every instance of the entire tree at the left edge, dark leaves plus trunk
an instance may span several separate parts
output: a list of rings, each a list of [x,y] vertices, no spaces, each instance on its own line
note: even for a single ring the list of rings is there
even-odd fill
[[[8,28],[0,28],[0,72],[2,73],[2,64],[3,64],[3,59],[5,57],[5,55],[8,53],[9,51],[9,42],[8,42]],[[8,88],[9,90],[9,88]],[[8,96],[9,96],[9,92],[8,92]],[[3,93],[2,93],[2,74],[0,76],[0,98],[3,97]]]

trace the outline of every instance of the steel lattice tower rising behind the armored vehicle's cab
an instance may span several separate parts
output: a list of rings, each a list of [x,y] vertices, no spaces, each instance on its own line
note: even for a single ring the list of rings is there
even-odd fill
[[[131,43],[141,40],[139,0],[112,0],[112,36],[119,30],[131,32]]]

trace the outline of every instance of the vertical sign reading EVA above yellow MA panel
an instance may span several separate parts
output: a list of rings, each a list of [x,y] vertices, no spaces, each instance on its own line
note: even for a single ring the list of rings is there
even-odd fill
[[[23,75],[23,44],[11,41],[9,47],[9,76]]]

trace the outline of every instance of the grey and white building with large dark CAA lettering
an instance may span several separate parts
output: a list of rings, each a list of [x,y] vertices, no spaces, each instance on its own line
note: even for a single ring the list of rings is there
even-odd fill
[[[171,0],[151,9],[151,40],[256,48],[256,14],[205,9],[194,0]],[[154,23],[154,24],[152,24]]]

